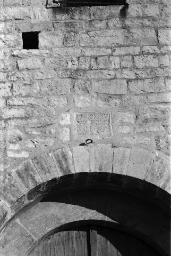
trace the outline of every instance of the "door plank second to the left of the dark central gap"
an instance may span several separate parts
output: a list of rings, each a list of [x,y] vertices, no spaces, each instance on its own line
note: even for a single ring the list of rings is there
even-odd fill
[[[74,231],[64,231],[65,256],[74,256]]]

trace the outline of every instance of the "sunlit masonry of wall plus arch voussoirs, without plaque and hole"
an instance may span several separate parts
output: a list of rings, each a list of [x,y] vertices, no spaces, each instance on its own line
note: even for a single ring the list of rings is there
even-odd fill
[[[170,193],[170,0],[127,3],[121,17],[123,6],[0,0],[2,228],[31,189],[66,174],[128,175]],[[29,31],[39,49],[22,49]],[[109,112],[110,136],[76,138],[77,112]]]

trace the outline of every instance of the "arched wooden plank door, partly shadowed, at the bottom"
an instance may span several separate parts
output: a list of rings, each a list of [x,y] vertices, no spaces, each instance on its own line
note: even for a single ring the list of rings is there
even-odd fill
[[[29,256],[159,256],[130,234],[100,226],[58,232],[39,243]]]

